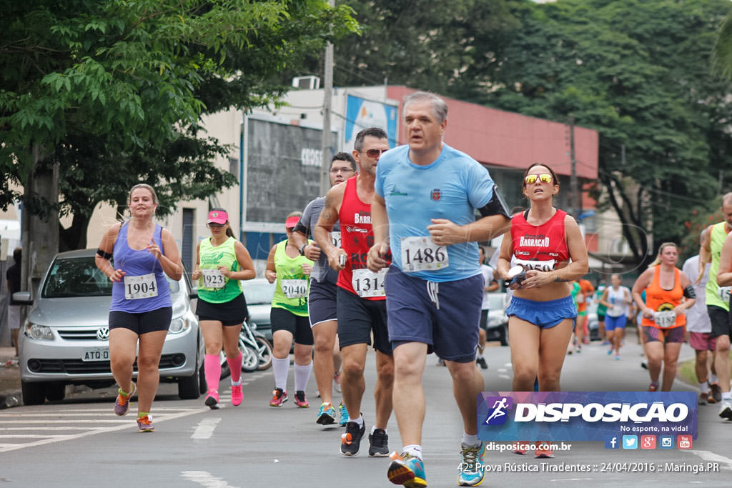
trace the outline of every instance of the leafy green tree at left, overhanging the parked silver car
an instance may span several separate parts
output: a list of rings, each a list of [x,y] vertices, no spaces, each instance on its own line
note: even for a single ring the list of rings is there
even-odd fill
[[[233,184],[201,116],[276,100],[278,70],[354,31],[349,13],[322,0],[5,2],[0,206],[72,212],[66,247],[83,247],[94,206],[124,203],[134,182],[162,184],[170,209]],[[48,165],[62,181],[53,209],[12,189]]]

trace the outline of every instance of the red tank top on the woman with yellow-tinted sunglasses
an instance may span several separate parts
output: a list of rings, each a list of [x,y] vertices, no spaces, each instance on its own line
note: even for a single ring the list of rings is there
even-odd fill
[[[551,271],[569,261],[567,239],[564,238],[564,217],[567,212],[557,209],[542,225],[526,222],[526,211],[511,219],[511,241],[515,263],[524,269]]]

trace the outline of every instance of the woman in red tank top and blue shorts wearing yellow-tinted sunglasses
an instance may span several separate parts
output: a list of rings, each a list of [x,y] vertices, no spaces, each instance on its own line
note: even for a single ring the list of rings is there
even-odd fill
[[[523,195],[531,202],[525,214],[511,220],[498,258],[498,275],[510,281],[509,269],[518,265],[526,277],[513,282],[509,315],[509,345],[513,365],[513,390],[559,391],[572,326],[577,316],[569,282],[587,273],[588,258],[575,219],[553,206],[559,179],[547,165],[534,163],[524,173]],[[526,454],[518,448],[516,454]],[[554,457],[537,448],[536,457]]]

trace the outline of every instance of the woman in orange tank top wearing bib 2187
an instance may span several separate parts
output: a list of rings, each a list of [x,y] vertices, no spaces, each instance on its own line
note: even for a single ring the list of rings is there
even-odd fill
[[[677,260],[679,249],[676,249],[676,244],[661,244],[656,260],[635,280],[632,289],[633,300],[643,311],[644,348],[651,376],[649,391],[658,389],[662,363],[661,389],[671,391],[681,342],[684,342],[684,310],[692,307],[696,297],[687,275],[676,268]],[[645,303],[641,299],[643,290],[646,290]]]

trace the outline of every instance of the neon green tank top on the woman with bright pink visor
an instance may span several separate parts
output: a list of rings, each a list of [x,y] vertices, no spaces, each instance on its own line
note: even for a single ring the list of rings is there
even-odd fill
[[[219,266],[239,271],[236,260],[236,239],[229,237],[223,244],[214,246],[211,238],[203,239],[198,249],[198,298],[210,304],[223,304],[234,300],[242,294],[242,282],[239,279],[228,279],[218,271]]]

